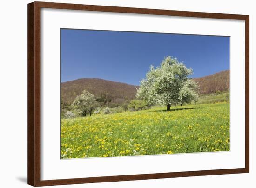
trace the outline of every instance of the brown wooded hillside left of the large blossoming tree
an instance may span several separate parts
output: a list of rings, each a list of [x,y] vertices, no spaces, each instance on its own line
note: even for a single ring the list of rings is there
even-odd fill
[[[107,94],[114,103],[122,103],[125,100],[135,99],[138,86],[126,83],[108,81],[99,78],[82,78],[61,83],[61,96],[63,100],[71,103],[84,89],[94,94],[96,98]]]

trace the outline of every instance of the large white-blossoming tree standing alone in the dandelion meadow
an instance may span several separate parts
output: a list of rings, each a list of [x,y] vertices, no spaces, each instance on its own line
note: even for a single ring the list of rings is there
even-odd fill
[[[167,110],[173,104],[189,103],[197,97],[197,85],[188,78],[193,69],[168,56],[159,67],[150,66],[146,78],[141,80],[137,97],[148,105],[165,104]]]

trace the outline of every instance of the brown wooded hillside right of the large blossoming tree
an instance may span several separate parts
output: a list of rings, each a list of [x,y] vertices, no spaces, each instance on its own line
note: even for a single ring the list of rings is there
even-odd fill
[[[197,82],[201,94],[210,94],[216,91],[229,90],[229,70],[218,72],[202,78],[194,78]]]

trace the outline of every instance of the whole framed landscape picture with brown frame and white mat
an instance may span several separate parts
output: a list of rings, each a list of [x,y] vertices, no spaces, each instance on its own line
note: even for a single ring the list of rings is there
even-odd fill
[[[249,15],[28,4],[28,184],[249,172]]]

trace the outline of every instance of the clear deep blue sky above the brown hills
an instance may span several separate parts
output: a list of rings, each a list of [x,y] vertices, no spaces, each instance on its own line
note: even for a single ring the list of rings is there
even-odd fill
[[[165,56],[191,67],[191,77],[228,70],[229,37],[61,29],[61,82],[101,78],[139,85]]]

